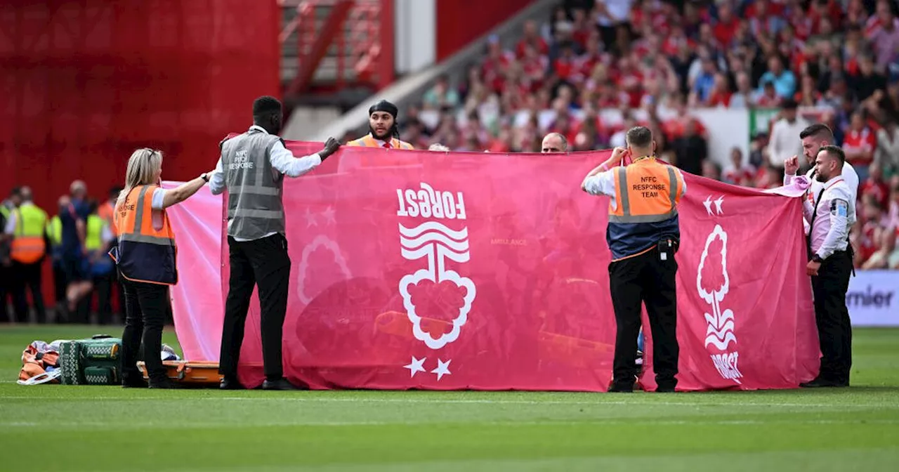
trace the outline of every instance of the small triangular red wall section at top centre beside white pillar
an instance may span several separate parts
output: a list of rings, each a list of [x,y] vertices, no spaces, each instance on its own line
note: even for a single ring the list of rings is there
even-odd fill
[[[506,21],[533,0],[452,0],[437,2],[437,60]]]

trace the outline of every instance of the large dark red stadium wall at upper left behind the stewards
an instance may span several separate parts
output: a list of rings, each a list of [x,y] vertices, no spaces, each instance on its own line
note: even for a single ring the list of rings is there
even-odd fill
[[[253,99],[279,94],[279,31],[273,0],[7,0],[0,193],[29,185],[52,214],[80,178],[105,198],[137,147],[165,152],[168,180],[212,169]]]

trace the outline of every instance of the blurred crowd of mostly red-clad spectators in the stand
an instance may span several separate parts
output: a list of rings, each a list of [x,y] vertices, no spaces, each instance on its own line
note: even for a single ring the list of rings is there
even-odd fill
[[[458,84],[441,77],[406,112],[402,136],[417,148],[538,152],[555,131],[584,151],[623,146],[643,124],[687,172],[772,188],[801,154],[799,131],[821,121],[861,182],[856,264],[899,268],[895,13],[886,0],[569,0],[510,47],[491,38]],[[690,115],[701,107],[780,112],[749,156],[734,148],[722,168]]]

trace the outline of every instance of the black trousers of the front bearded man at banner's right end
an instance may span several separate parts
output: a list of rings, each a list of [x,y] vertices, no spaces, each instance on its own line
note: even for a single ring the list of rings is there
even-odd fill
[[[852,367],[852,325],[846,307],[846,292],[852,272],[852,257],[841,251],[824,259],[812,277],[814,321],[821,343],[820,378],[849,383]]]

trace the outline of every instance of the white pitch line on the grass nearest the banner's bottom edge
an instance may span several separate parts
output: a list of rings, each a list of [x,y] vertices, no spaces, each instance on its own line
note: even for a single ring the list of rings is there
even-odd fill
[[[264,394],[263,394],[264,395]],[[679,395],[679,394],[675,394]],[[397,404],[473,404],[473,405],[663,405],[663,406],[689,406],[691,408],[700,408],[708,406],[761,406],[761,407],[782,407],[782,408],[859,408],[859,409],[899,409],[899,405],[841,405],[841,404],[800,404],[800,403],[686,403],[686,402],[641,402],[641,401],[565,401],[565,400],[491,400],[487,398],[472,399],[453,399],[453,398],[316,398],[316,397],[265,397],[265,396],[206,396],[201,398],[191,397],[106,397],[106,396],[73,396],[71,398],[46,398],[35,396],[0,396],[0,399],[10,400],[39,400],[46,401],[68,401],[68,400],[87,400],[87,401],[210,401],[210,400],[227,400],[227,401],[251,401],[251,402],[307,402],[307,403],[397,403]],[[2,405],[0,405],[2,406]]]

